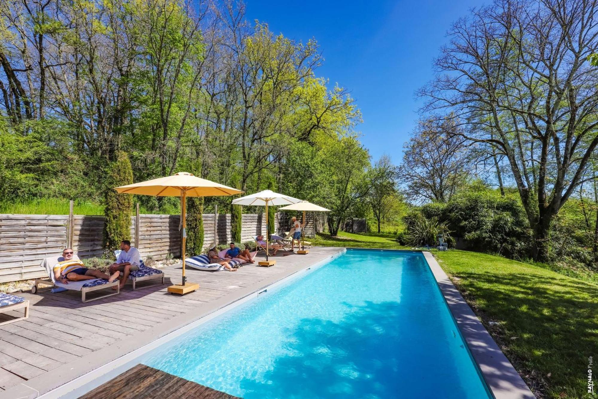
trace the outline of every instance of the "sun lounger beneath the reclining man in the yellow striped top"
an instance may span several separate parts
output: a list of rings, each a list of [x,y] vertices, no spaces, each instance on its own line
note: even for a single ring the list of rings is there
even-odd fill
[[[77,256],[73,256],[73,259],[78,260]],[[51,258],[45,258],[41,262],[41,267],[45,268],[45,271],[48,273],[47,279],[36,279],[35,283],[31,287],[32,294],[35,294],[40,289],[48,289],[54,286],[69,289],[71,291],[81,291],[81,302],[89,302],[94,301],[100,298],[111,297],[112,295],[120,294],[120,289],[118,288],[118,280],[113,281],[111,283],[108,280],[104,279],[91,279],[91,280],[83,280],[83,281],[69,281],[68,284],[63,284],[59,281],[54,279],[54,270],[53,267],[58,262],[65,260],[62,256],[53,256]],[[46,285],[45,288],[39,288],[39,285]],[[116,292],[111,292],[110,294],[102,295],[101,297],[96,297],[91,300],[86,300],[86,294],[88,292],[98,291],[100,289],[112,288],[116,287]]]

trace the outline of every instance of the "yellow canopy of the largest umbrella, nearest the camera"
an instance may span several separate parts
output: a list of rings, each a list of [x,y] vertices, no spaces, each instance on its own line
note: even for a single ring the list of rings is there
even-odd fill
[[[154,195],[154,197],[179,197],[182,191],[187,197],[212,197],[214,195],[235,195],[242,191],[201,179],[191,173],[179,172],[172,176],[147,180],[146,182],[115,188],[121,194]]]

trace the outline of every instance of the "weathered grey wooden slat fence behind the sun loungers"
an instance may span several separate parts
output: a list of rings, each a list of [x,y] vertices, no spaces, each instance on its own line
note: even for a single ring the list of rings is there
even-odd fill
[[[179,215],[140,214],[131,217],[131,243],[142,256],[160,260],[181,255]],[[214,242],[214,215],[204,214],[204,247]],[[230,214],[218,214],[218,243],[231,240]],[[103,216],[72,216],[73,250],[81,258],[102,256]],[[265,214],[243,214],[242,241],[266,234]],[[0,283],[45,277],[40,263],[68,245],[69,215],[0,214]]]

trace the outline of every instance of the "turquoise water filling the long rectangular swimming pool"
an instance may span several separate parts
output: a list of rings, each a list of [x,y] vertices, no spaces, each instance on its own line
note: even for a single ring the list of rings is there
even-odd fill
[[[347,250],[144,364],[243,398],[489,398],[411,252]]]

